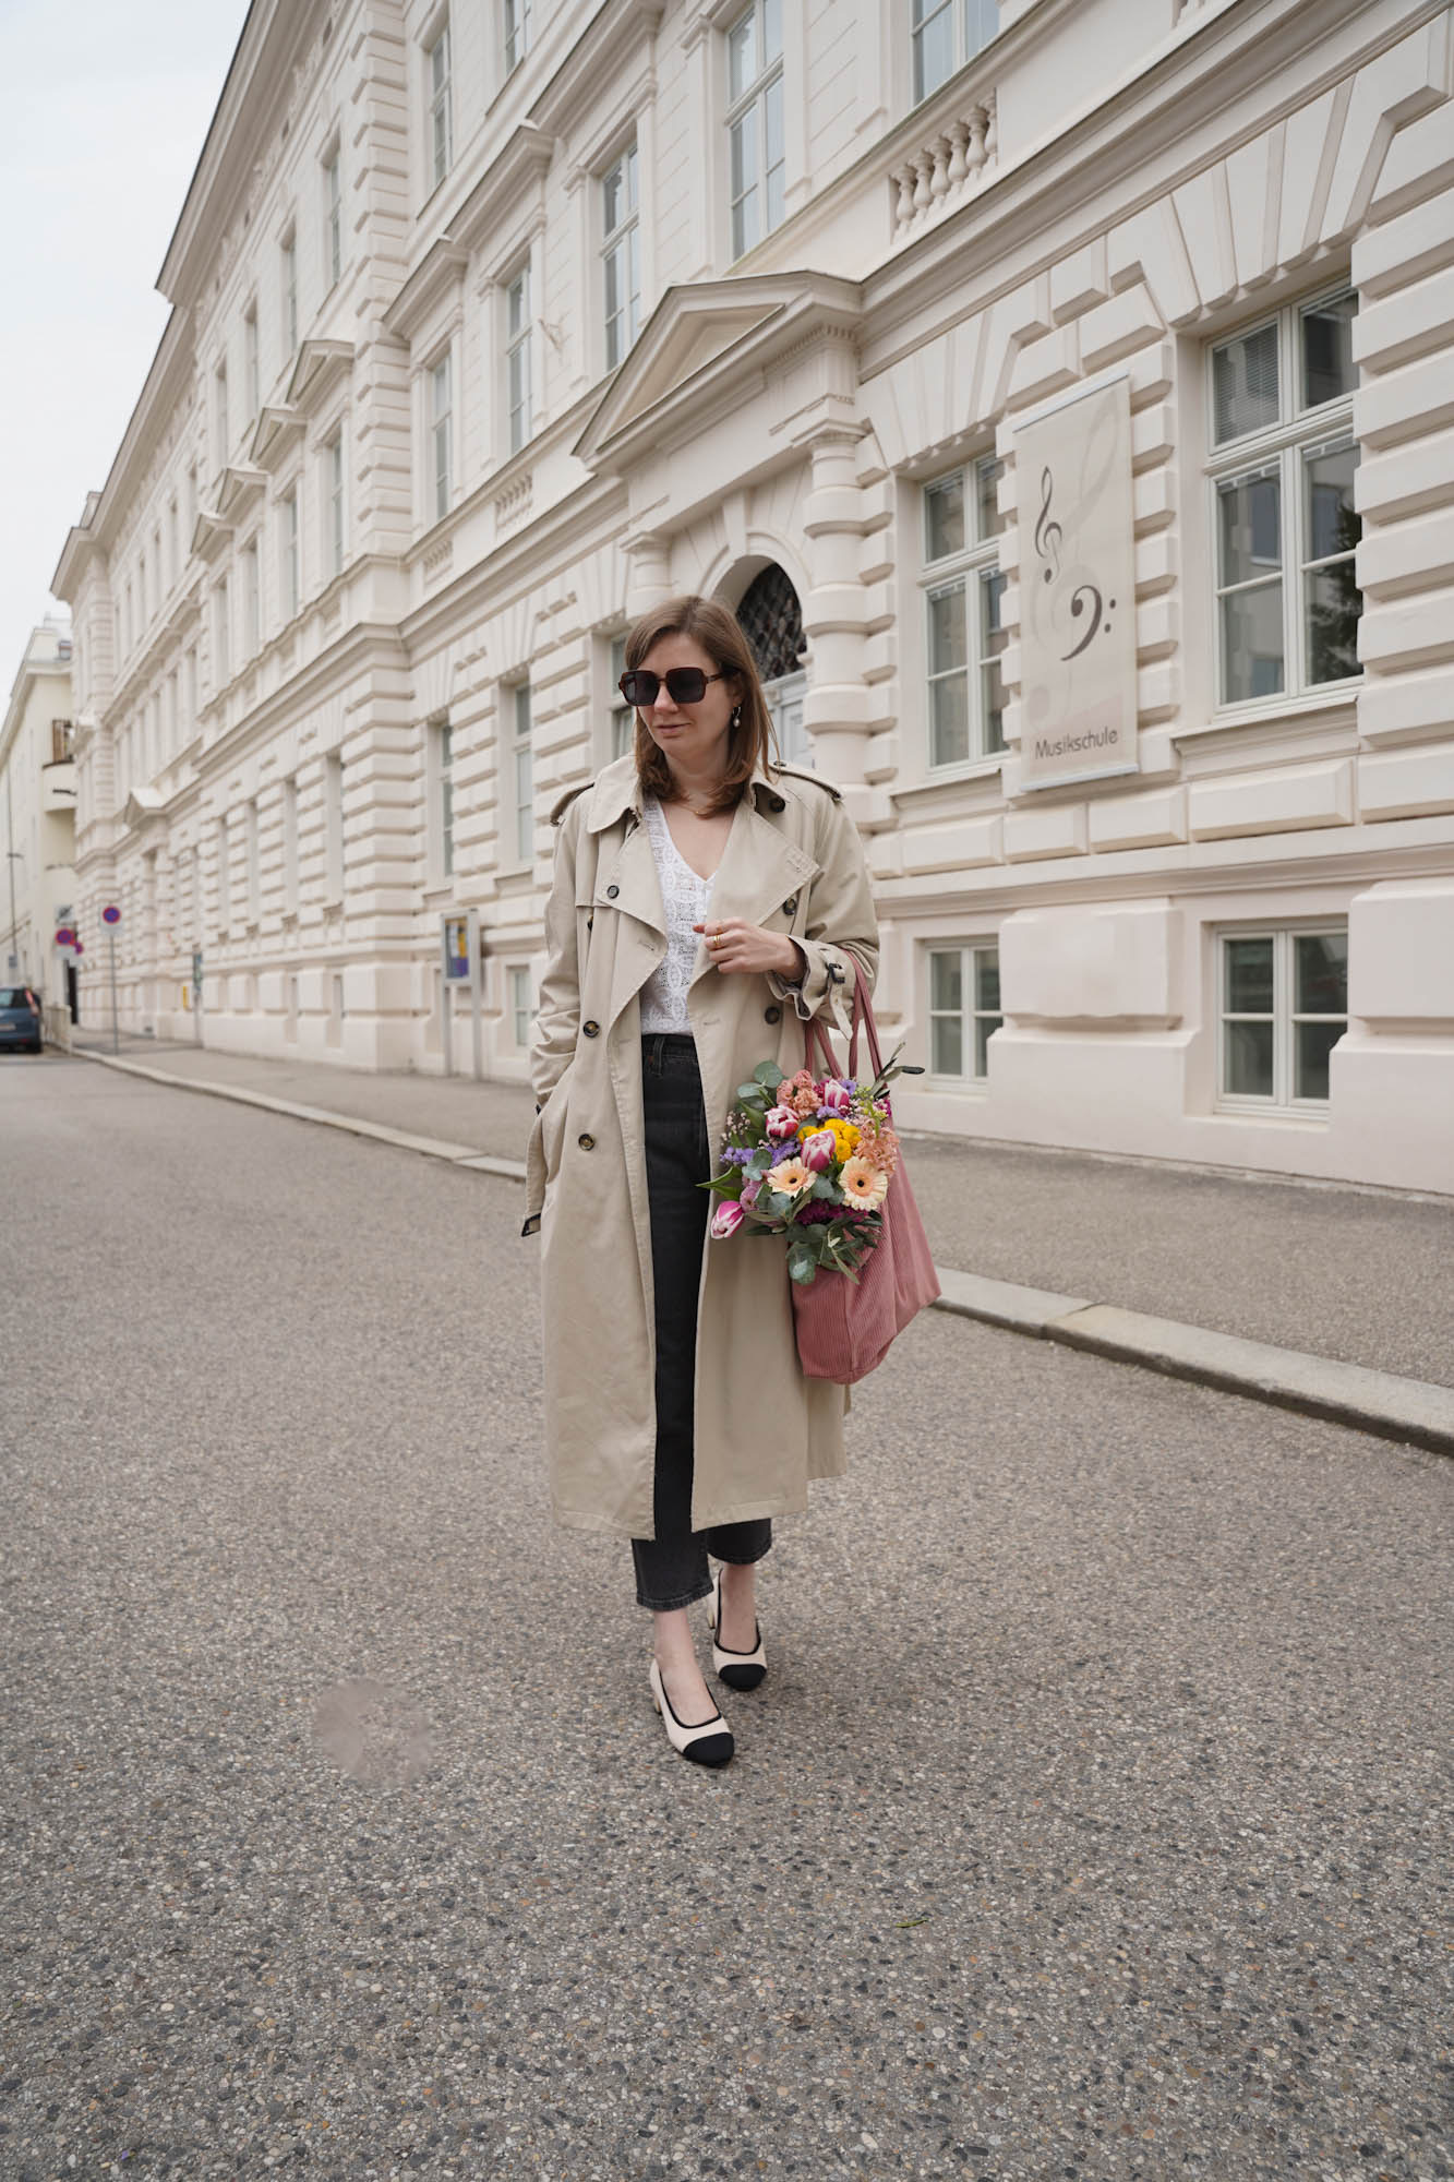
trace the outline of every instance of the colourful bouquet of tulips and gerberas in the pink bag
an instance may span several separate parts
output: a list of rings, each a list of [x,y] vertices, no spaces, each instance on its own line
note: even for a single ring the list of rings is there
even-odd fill
[[[727,1115],[723,1172],[703,1183],[718,1200],[712,1237],[786,1235],[788,1274],[801,1287],[819,1268],[856,1283],[899,1163],[889,1084],[902,1074],[899,1050],[869,1084],[810,1069],[784,1076],[760,1060]]]

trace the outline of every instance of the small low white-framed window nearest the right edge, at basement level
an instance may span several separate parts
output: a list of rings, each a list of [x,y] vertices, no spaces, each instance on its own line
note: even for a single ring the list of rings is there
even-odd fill
[[[1347,925],[1225,932],[1218,954],[1220,1104],[1325,1106],[1347,1030]]]

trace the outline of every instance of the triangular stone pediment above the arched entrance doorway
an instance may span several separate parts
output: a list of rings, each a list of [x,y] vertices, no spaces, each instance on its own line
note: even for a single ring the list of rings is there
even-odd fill
[[[856,281],[827,273],[749,273],[740,279],[668,288],[576,441],[594,467],[613,467],[651,434],[686,436],[734,384],[766,369],[814,334],[851,334]]]

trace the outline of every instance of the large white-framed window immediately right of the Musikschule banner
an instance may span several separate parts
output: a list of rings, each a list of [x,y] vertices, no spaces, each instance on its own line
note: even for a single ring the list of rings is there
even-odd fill
[[[1212,345],[1220,705],[1360,672],[1356,310],[1323,297]]]

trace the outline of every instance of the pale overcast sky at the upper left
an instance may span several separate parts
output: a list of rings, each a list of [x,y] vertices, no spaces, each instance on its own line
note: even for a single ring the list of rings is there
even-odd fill
[[[247,0],[0,0],[0,705],[155,356]]]

